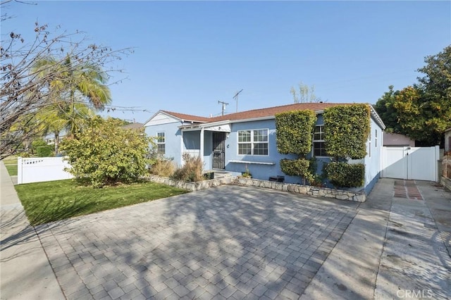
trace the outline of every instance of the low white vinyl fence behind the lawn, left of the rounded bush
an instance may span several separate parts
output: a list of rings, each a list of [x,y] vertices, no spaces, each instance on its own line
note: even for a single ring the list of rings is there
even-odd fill
[[[64,168],[70,167],[62,157],[22,158],[17,160],[18,185],[73,178]]]

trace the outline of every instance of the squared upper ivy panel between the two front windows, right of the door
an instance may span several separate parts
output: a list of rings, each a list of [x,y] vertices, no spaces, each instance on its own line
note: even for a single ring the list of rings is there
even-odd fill
[[[277,150],[280,154],[306,156],[311,151],[311,132],[316,113],[310,110],[288,111],[276,115]]]

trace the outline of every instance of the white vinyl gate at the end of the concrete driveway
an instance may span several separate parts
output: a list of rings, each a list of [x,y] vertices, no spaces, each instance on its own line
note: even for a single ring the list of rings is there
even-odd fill
[[[438,146],[383,147],[382,155],[382,177],[437,181]]]

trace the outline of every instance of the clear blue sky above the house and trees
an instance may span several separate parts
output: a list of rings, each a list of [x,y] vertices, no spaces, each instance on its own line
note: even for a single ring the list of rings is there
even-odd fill
[[[451,44],[451,1],[37,1],[11,4],[1,34],[36,20],[97,44],[135,47],[109,115],[144,122],[159,109],[209,116],[292,103],[315,85],[328,102],[376,103],[416,82],[424,56]],[[145,112],[143,110],[146,110]]]

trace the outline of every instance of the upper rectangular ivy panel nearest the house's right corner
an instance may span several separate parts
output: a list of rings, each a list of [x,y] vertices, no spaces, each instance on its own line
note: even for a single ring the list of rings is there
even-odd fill
[[[326,108],[323,113],[324,139],[329,156],[361,159],[366,156],[370,131],[370,108],[352,104]]]

